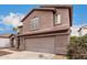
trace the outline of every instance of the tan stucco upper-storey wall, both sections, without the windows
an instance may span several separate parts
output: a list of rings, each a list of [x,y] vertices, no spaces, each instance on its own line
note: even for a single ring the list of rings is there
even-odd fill
[[[56,9],[56,14],[61,14],[62,23],[56,26],[63,26],[67,25],[69,28],[69,10],[68,9]],[[24,21],[23,21],[23,28],[21,31],[21,34],[25,34],[29,32],[33,32],[30,29],[30,21],[34,17],[40,18],[40,28],[39,30],[43,30],[46,28],[53,28],[54,26],[54,13],[52,11],[33,11]],[[66,28],[66,26],[65,26]],[[35,31],[39,31],[35,30]]]

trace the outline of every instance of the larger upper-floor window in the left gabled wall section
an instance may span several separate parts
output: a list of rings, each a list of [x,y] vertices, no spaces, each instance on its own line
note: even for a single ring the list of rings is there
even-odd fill
[[[39,22],[40,22],[40,18],[37,18],[37,17],[35,17],[35,18],[33,18],[33,19],[31,19],[31,21],[30,21],[30,29],[31,30],[36,30],[36,29],[39,29]]]

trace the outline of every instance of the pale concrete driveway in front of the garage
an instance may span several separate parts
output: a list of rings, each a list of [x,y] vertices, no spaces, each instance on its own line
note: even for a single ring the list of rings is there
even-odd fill
[[[66,59],[66,57],[48,53],[2,48],[0,50],[0,59]]]

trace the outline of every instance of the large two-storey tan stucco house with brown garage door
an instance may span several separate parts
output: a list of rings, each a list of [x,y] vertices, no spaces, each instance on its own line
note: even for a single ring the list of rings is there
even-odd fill
[[[66,54],[72,26],[72,6],[42,6],[21,22],[19,50]]]

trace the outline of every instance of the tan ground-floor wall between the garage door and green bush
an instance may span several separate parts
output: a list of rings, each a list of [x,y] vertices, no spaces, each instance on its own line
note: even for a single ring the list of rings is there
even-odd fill
[[[55,36],[55,54],[66,54],[69,44],[69,35]]]

